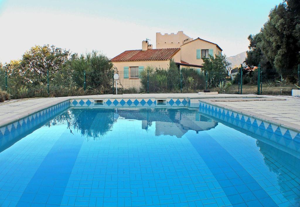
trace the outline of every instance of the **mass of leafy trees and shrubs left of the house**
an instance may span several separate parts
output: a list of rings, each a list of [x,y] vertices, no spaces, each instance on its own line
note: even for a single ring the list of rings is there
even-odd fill
[[[86,88],[83,91],[86,72]],[[85,56],[71,54],[69,50],[55,46],[35,46],[26,51],[20,60],[12,60],[2,68],[0,75],[7,71],[8,91],[14,98],[48,96],[47,71],[49,71],[49,92],[53,96],[75,94],[110,93],[112,87],[113,64],[103,54],[93,51]],[[0,87],[5,87],[5,79],[0,77]]]

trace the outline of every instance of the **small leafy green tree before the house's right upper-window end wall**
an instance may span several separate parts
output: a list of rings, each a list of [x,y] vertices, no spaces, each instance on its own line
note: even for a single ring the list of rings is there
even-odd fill
[[[226,55],[209,56],[203,59],[202,71],[206,73],[208,87],[214,87],[220,81],[225,80],[228,75],[228,68],[231,65],[226,60]]]

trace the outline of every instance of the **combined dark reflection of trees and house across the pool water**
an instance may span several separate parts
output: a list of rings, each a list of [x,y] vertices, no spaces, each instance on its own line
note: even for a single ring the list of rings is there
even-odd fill
[[[217,122],[200,115],[198,110],[187,108],[71,108],[52,119],[47,126],[64,124],[70,133],[73,130],[87,139],[101,139],[112,130],[117,118],[142,120],[142,129],[156,123],[155,135],[182,135],[188,130],[203,131],[214,128]],[[171,125],[177,132],[171,130]]]

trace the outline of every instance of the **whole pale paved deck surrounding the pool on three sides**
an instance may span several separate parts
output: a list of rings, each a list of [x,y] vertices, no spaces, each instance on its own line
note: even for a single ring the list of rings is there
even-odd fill
[[[0,127],[70,99],[114,98],[190,98],[241,111],[300,131],[300,98],[239,94],[199,95],[197,93],[122,94],[17,99],[0,103]]]

